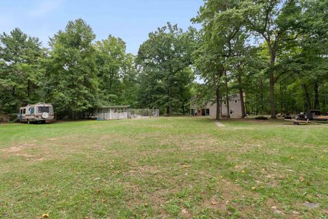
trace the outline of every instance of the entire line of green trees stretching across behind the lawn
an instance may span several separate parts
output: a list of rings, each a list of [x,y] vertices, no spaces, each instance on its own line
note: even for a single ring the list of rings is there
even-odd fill
[[[82,19],[49,48],[16,28],[0,34],[0,114],[39,101],[52,103],[58,118],[102,105],[187,114],[191,96],[201,94],[201,106],[236,93],[245,95],[243,116],[328,112],[327,20],[323,0],[205,0],[191,19],[200,29],[167,23],[137,55],[121,38],[96,41]]]

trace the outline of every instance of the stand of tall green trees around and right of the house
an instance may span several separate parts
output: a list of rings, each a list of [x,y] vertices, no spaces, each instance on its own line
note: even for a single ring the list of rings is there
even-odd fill
[[[325,1],[205,1],[193,18],[203,33],[194,54],[208,98],[228,80],[232,92],[246,92],[249,113],[327,108],[327,8]]]

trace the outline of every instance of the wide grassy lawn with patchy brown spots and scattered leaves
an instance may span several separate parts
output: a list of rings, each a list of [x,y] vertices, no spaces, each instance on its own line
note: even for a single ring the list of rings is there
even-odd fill
[[[222,123],[0,125],[0,218],[328,217],[328,125]]]

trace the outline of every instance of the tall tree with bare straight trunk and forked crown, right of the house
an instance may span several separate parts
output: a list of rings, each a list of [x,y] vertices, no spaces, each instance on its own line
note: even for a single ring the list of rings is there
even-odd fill
[[[270,55],[268,68],[270,81],[270,106],[271,118],[275,114],[275,82],[279,76],[275,75],[275,62],[279,55],[279,47],[282,42],[296,40],[300,32],[295,31],[299,25],[301,7],[293,0],[251,0],[245,1],[241,10],[247,8],[247,27],[253,31],[255,37],[264,39]]]

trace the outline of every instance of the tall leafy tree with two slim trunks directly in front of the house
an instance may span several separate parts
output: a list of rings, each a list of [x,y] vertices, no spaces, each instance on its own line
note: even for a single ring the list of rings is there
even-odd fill
[[[219,99],[220,93],[218,92],[221,87],[221,81],[226,85],[226,103],[227,103],[227,116],[230,117],[229,106],[229,88],[228,88],[228,69],[227,60],[231,57],[241,56],[241,49],[247,39],[245,31],[245,21],[243,12],[238,10],[231,10],[238,7],[241,1],[222,1],[222,0],[208,0],[205,1],[204,6],[200,8],[198,16],[193,18],[194,22],[202,23],[203,44],[200,51],[207,51],[212,53],[210,57],[215,57],[216,60],[211,62],[198,62],[200,65],[217,65],[217,77],[213,77],[213,73],[205,70],[203,77],[208,79],[216,78],[217,81],[217,112],[219,112]],[[204,59],[201,55],[197,57],[199,60]],[[208,66],[208,67],[210,67]],[[213,66],[214,67],[214,66]],[[213,67],[210,67],[213,69]],[[205,66],[206,68],[206,66]],[[215,68],[215,67],[214,67]],[[241,79],[241,78],[239,78]],[[240,81],[241,82],[241,81]],[[245,110],[243,110],[245,112]],[[218,119],[219,115],[217,116]]]

